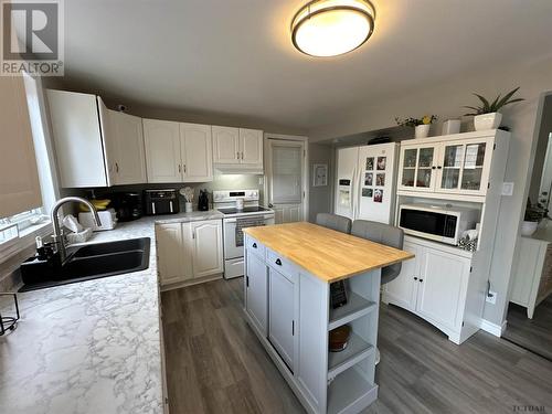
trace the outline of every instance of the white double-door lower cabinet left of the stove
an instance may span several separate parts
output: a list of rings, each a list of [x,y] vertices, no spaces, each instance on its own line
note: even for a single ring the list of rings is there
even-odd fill
[[[222,274],[222,221],[156,224],[161,285]]]

